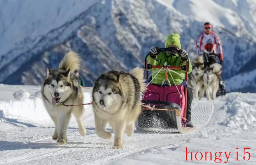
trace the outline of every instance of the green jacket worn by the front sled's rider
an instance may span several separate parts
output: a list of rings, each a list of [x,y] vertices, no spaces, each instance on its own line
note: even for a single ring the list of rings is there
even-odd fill
[[[159,53],[155,59],[152,57],[148,56],[147,57],[148,64],[150,65],[160,65],[164,66],[165,61],[167,61],[167,66],[184,66],[186,65],[186,61],[181,60],[181,57],[178,54],[172,55],[169,53],[161,52]],[[152,68],[150,71],[159,71],[160,69],[158,68]],[[181,76],[177,75],[176,73],[171,72],[172,77],[174,78],[174,81],[172,80],[170,73],[168,72],[168,79],[170,80],[171,85],[180,85],[183,82],[183,79],[185,79],[185,72],[183,70],[173,70],[179,73]],[[156,76],[157,72],[153,73],[152,78]],[[190,62],[190,59],[188,57],[188,73],[192,72],[192,65]],[[153,84],[162,84],[162,81],[165,79],[165,70],[162,70],[161,72],[158,73],[158,75],[153,79],[151,83]],[[175,83],[174,83],[175,82]],[[167,81],[165,83],[168,84]]]

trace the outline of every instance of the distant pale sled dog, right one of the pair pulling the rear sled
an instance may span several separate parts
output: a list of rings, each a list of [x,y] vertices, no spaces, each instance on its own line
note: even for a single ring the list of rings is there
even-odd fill
[[[203,75],[203,84],[206,89],[207,100],[215,99],[219,89],[219,76],[222,73],[222,66],[218,63],[206,68]]]

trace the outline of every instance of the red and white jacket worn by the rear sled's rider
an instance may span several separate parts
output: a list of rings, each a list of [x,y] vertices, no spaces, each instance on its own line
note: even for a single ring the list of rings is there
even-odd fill
[[[201,55],[202,51],[204,50],[204,46],[208,43],[213,44],[213,53],[218,55],[223,54],[219,35],[214,31],[211,31],[209,34],[202,32],[200,35],[198,35],[196,40],[196,54],[198,56]]]

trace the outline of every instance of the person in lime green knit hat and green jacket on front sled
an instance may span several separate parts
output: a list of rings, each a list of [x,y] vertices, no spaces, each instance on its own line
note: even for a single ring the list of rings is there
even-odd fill
[[[167,36],[165,41],[165,48],[172,48],[176,50],[175,52],[161,52],[159,53],[158,47],[152,47],[150,48],[150,55],[147,57],[148,64],[150,65],[160,65],[164,66],[165,62],[167,62],[167,65],[170,66],[184,66],[186,65],[186,62],[188,61],[188,73],[192,72],[192,65],[190,62],[190,58],[188,57],[188,53],[186,50],[181,49],[181,43],[180,43],[180,35],[177,33],[171,33]],[[155,71],[159,71],[157,68],[150,69],[153,71],[152,77],[154,79],[152,80],[152,84],[158,84],[162,85],[163,80],[165,79],[165,71],[162,70],[159,73]],[[173,85],[180,85],[183,82],[183,79],[185,79],[185,71],[183,70],[174,70],[180,75],[177,75],[177,73],[171,72],[168,73],[168,79],[170,81],[171,86]],[[157,74],[158,73],[158,74]],[[169,84],[169,82],[165,81],[166,84]],[[187,90],[187,127],[193,127],[193,124],[191,123],[191,104],[193,100],[193,91],[192,88],[188,87]]]

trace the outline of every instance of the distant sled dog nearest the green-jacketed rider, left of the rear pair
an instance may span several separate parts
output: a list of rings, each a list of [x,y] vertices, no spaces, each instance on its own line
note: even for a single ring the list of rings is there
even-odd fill
[[[193,60],[193,70],[188,75],[188,86],[193,89],[193,97],[198,99],[204,96],[204,84],[203,84],[203,74],[204,74],[204,60],[203,56],[198,56]]]

